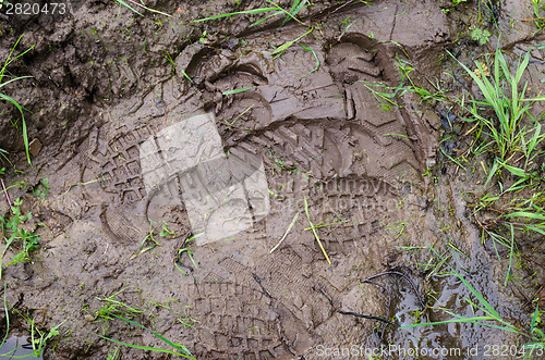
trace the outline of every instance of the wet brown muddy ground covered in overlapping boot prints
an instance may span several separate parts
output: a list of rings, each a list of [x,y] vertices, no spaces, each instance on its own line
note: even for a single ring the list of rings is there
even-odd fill
[[[290,9],[290,1],[279,3]],[[14,124],[20,114],[8,103],[0,148],[14,164],[3,164],[9,196],[34,213],[25,226],[40,236],[29,261],[5,266],[17,249],[4,256],[11,334],[28,335],[22,314],[46,333],[62,323],[44,359],[106,359],[117,348],[122,359],[167,357],[97,336],[168,348],[112,314],[132,316],[198,359],[316,359],[326,348],[388,344],[459,348],[460,356],[428,358],[472,359],[467,351],[475,346],[522,346],[516,334],[471,323],[397,328],[426,306],[473,315],[458,278],[427,276],[427,244],[451,243],[467,255],[455,252],[452,265],[520,326],[531,316],[526,302],[543,283],[544,262],[532,248],[531,261],[514,270],[522,280],[504,286],[506,259],[482,244],[467,208],[467,193],[483,190],[479,164],[463,170],[446,157],[463,142],[462,121],[410,91],[395,104],[373,92],[377,84],[407,82],[399,62],[411,64],[420,86],[435,79],[452,91],[472,90],[446,50],[469,63],[493,51],[500,32],[514,58],[545,40],[521,21],[533,16],[524,1],[491,4],[482,10],[493,33],[486,46],[468,35],[476,1],[456,9],[450,1],[322,1],[302,10],[304,24],[281,26],[283,17],[275,17],[256,27],[249,26],[264,15],[192,22],[264,5],[253,0],[146,2],[173,17],[138,16],[113,1],[69,3],[56,17],[0,17],[0,59],[22,34],[17,50],[34,47],[8,69],[33,77],[2,88],[28,110],[32,166],[21,121]],[[276,57],[276,48],[298,38]],[[544,57],[543,48],[532,52],[534,91]],[[229,92],[237,89],[246,90]],[[155,162],[143,160],[143,149],[160,148],[160,134],[202,114],[217,127],[218,157],[257,159],[267,190],[255,199],[245,194],[250,225],[235,235],[216,234],[237,216],[214,200],[217,209],[203,215],[207,240],[187,243],[198,227],[192,211],[206,195],[189,199],[184,182],[209,195],[214,175],[197,169],[183,177],[173,167],[168,184],[150,187]],[[441,141],[446,134],[453,140]],[[208,156],[197,129],[178,135],[196,139],[191,149],[198,156],[177,148],[175,159]],[[48,188],[39,185],[44,178]],[[113,300],[125,306],[108,313]],[[437,310],[423,316],[449,319]]]

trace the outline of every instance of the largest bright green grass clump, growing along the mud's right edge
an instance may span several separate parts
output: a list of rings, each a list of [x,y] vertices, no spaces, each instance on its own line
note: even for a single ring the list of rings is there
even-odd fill
[[[480,62],[476,62],[475,72],[460,63],[484,98],[459,101],[468,113],[461,117],[473,125],[468,132],[474,134],[470,149],[475,156],[486,154],[485,158],[493,159],[488,169],[483,162],[487,172],[485,185],[493,179],[497,185],[495,190],[482,195],[470,206],[475,209],[474,215],[491,209],[497,214],[479,225],[483,229],[483,240],[492,238],[495,245],[508,249],[506,284],[518,255],[516,239],[522,234],[545,235],[545,183],[541,174],[544,165],[540,164],[545,156],[542,150],[545,134],[542,134],[541,119],[531,115],[533,102],[545,100],[545,96],[526,97],[528,83],[522,84],[522,76],[529,60],[529,53],[519,59],[514,75],[499,48],[492,75]]]

